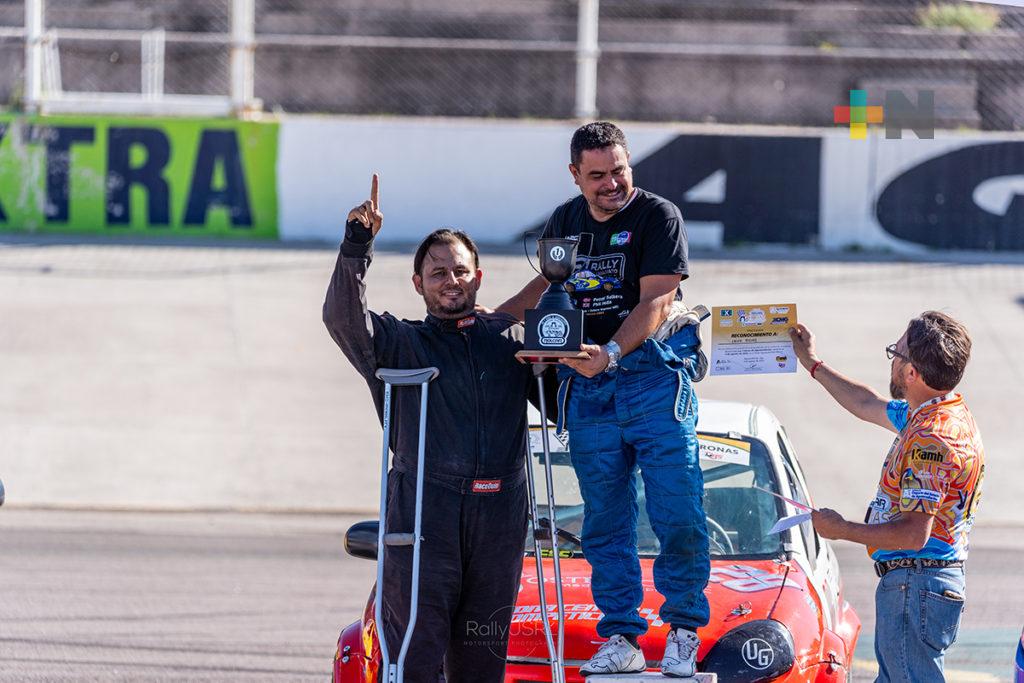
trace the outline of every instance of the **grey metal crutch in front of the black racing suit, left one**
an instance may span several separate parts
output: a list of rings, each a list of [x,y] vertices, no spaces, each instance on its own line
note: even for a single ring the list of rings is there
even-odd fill
[[[437,377],[436,368],[422,370],[379,369],[375,375],[384,382],[384,450],[381,455],[381,519],[377,531],[377,604],[374,606],[374,618],[377,620],[377,640],[381,647],[381,668],[386,672],[385,683],[402,683],[404,679],[406,652],[413,642],[413,630],[416,628],[416,612],[420,599],[420,530],[423,521],[423,456],[426,452],[427,435],[427,386]],[[416,521],[412,532],[385,533],[387,523],[387,466],[390,458],[391,436],[391,387],[420,385],[420,433],[417,440],[416,454]],[[413,594],[410,598],[409,626],[401,639],[401,649],[398,658],[391,661],[387,651],[387,636],[384,632],[384,547],[413,547]]]

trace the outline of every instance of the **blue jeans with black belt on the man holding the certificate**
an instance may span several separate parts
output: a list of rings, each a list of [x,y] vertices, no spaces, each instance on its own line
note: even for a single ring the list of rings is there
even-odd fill
[[[961,567],[894,569],[874,591],[876,683],[945,680],[942,663],[964,611]]]

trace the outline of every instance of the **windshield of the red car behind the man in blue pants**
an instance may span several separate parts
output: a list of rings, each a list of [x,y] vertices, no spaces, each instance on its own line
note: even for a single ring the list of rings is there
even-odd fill
[[[555,515],[559,549],[581,552],[577,540],[583,530],[583,498],[580,482],[569,459],[565,434],[556,438],[549,430],[552,480],[555,492]],[[538,516],[547,525],[548,498],[544,472],[544,449],[541,430],[529,434],[534,454],[534,478],[537,482]],[[698,433],[700,471],[705,479],[703,507],[708,517],[708,536],[713,557],[743,558],[777,556],[782,553],[782,535],[768,531],[784,514],[781,502],[767,492],[779,492],[778,480],[765,445],[758,439],[736,434]],[[640,555],[657,555],[658,543],[647,518],[643,476],[636,473],[640,514],[637,520],[637,546]],[[762,490],[763,489],[763,490]],[[542,544],[542,548],[547,543]],[[531,552],[532,541],[527,543]]]

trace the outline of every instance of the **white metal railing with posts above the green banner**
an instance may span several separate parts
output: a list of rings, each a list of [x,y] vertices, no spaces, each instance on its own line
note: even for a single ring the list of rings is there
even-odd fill
[[[258,108],[253,0],[193,0],[212,19],[201,30],[186,12],[171,22],[188,27],[182,30],[165,28],[158,12],[126,16],[102,3],[80,4],[25,1],[27,111],[227,116]]]

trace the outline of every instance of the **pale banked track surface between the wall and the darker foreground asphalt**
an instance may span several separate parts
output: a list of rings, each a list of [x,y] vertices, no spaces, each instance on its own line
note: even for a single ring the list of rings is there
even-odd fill
[[[368,279],[375,310],[422,318],[411,253],[378,253]],[[0,242],[8,504],[375,510],[380,427],[366,385],[321,322],[335,254]],[[1024,523],[1024,259],[786,250],[691,260],[691,305],[796,303],[820,356],[883,392],[884,348],[907,319],[928,308],[964,319],[974,352],[961,390],[986,445],[981,519]],[[482,303],[503,301],[532,273],[521,252],[487,253],[481,265]],[[710,377],[696,388],[700,398],[768,405],[815,503],[862,516],[890,432],[851,418],[805,372]]]

